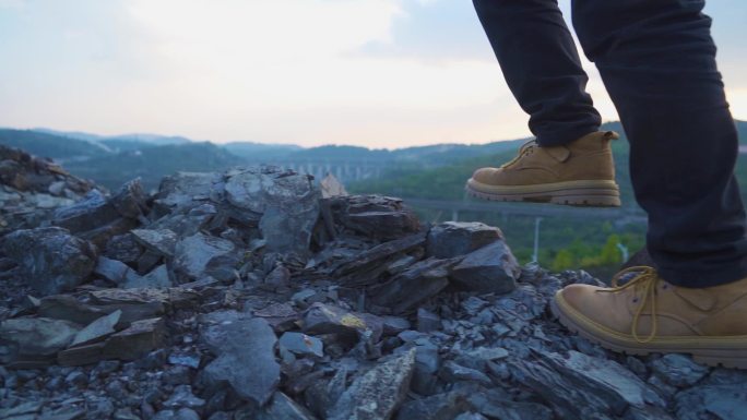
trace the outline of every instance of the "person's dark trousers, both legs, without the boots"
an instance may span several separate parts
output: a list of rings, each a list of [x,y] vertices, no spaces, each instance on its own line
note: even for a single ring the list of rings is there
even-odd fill
[[[596,131],[573,39],[556,0],[474,0],[506,81],[540,145]],[[660,275],[708,287],[747,277],[737,132],[703,0],[573,0],[573,26],[630,141]]]

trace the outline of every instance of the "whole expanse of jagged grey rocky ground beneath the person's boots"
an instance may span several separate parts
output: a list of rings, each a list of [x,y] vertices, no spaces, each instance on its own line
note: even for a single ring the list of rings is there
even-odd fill
[[[747,373],[626,357],[498,228],[277,168],[107,194],[0,147],[0,419],[745,419]]]

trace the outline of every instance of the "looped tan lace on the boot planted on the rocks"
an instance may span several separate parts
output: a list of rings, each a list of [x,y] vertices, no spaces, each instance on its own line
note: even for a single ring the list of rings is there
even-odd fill
[[[635,276],[632,276],[630,279],[627,279],[630,277],[631,273],[633,273]],[[620,285],[619,281],[621,279],[627,279],[627,281]],[[636,290],[642,291],[643,295],[641,302],[638,305],[638,310],[636,310],[636,314],[633,315],[631,327],[631,334],[633,338],[636,341],[641,344],[650,343],[654,339],[654,337],[656,337],[656,331],[659,328],[659,322],[656,321],[656,285],[660,280],[662,280],[662,278],[659,277],[655,268],[649,266],[635,266],[617,273],[612,279],[610,288],[597,290],[598,292],[614,293],[633,287]],[[641,338],[638,335],[638,321],[640,320],[643,309],[645,308],[645,303],[649,301],[649,299],[651,300],[651,333],[645,338]]]

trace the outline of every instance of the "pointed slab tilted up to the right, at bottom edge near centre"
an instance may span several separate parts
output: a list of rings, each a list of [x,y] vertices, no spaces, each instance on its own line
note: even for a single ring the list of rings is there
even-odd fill
[[[329,420],[387,420],[402,404],[415,365],[415,349],[376,365],[353,382]]]

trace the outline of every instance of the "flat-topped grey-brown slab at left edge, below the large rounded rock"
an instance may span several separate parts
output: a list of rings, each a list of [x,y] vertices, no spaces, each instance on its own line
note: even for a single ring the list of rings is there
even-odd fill
[[[46,360],[68,347],[81,326],[46,317],[19,317],[0,324],[0,362]]]

